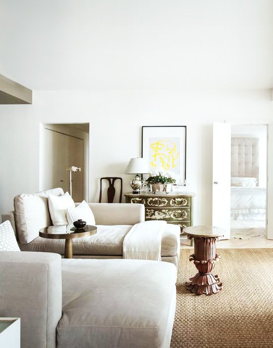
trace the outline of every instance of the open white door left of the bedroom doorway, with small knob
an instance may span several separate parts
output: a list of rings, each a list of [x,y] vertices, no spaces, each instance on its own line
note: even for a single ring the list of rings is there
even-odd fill
[[[231,126],[213,124],[213,226],[225,229],[230,238],[230,152]]]

